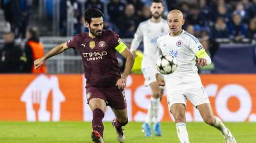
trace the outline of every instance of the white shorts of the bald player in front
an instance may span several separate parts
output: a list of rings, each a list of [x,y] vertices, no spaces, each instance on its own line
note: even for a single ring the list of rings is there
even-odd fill
[[[188,99],[195,107],[203,103],[210,103],[208,95],[204,91],[204,88],[201,87],[167,95],[169,110],[171,110],[174,103],[182,103],[186,106],[186,99]]]

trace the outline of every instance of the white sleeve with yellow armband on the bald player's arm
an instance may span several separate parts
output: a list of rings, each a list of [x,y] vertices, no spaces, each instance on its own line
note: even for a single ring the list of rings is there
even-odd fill
[[[211,63],[210,57],[208,56],[207,52],[204,50],[202,44],[195,37],[192,37],[190,39],[189,47],[197,58],[206,59],[207,65],[210,65]]]

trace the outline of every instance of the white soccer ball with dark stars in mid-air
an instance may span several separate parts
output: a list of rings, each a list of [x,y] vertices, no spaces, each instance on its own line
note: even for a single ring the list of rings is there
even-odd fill
[[[161,74],[168,75],[177,68],[177,60],[173,55],[160,55],[156,59],[156,67]]]

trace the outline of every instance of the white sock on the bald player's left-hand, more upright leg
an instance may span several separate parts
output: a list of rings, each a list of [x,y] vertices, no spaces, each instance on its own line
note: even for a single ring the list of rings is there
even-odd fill
[[[181,143],[189,143],[188,131],[185,123],[176,123],[178,137]]]

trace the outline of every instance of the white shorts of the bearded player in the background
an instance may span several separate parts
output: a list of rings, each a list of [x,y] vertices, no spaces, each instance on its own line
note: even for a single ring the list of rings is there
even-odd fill
[[[142,68],[142,73],[145,78],[144,84],[146,86],[149,86],[149,84],[156,82],[156,79],[155,79],[156,69],[154,69],[153,67]]]

